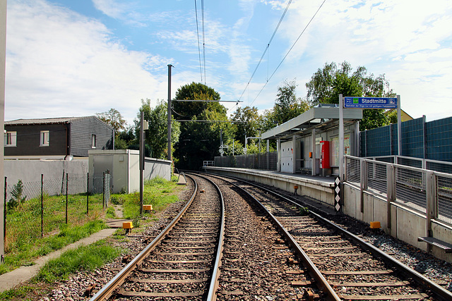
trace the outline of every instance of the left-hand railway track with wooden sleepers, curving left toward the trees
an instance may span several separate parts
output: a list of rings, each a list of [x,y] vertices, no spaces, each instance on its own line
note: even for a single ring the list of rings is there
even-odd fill
[[[218,187],[200,176],[179,215],[90,300],[212,300],[224,233]]]

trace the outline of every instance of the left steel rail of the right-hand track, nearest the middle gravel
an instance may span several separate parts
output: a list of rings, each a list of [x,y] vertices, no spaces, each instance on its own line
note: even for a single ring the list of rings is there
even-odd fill
[[[230,177],[228,177],[228,178],[230,178]],[[243,181],[243,182],[245,182],[245,181]],[[234,183],[230,183],[230,184],[239,188],[244,193],[246,193],[246,195],[248,195],[251,199],[253,199],[254,202],[256,202],[256,204],[258,204],[258,206],[261,207],[261,209],[263,209],[263,211],[265,211],[266,214],[268,214],[268,216],[273,221],[273,223],[275,223],[276,226],[278,226],[278,228],[283,233],[285,238],[289,241],[290,245],[292,245],[292,247],[295,249],[295,251],[297,252],[299,257],[304,260],[304,264],[307,267],[307,269],[309,270],[309,274],[312,276],[312,278],[314,278],[316,280],[316,283],[319,285],[319,288],[323,291],[323,293],[326,294],[326,300],[335,300],[335,301],[342,300],[338,296],[338,294],[335,293],[335,291],[333,290],[331,285],[328,283],[328,281],[326,281],[326,278],[323,277],[323,275],[321,274],[319,269],[317,269],[314,262],[312,262],[311,259],[309,259],[308,255],[304,252],[302,247],[299,246],[299,244],[297,243],[295,238],[293,238],[293,236],[290,235],[290,233],[284,228],[284,226],[278,221],[278,219],[276,219],[276,217],[273,216],[273,214],[271,214],[270,211],[268,211],[268,209],[265,206],[263,206],[263,204],[261,202],[259,202],[254,196],[252,196],[249,192],[247,192],[243,188],[239,187],[239,185],[236,185]]]

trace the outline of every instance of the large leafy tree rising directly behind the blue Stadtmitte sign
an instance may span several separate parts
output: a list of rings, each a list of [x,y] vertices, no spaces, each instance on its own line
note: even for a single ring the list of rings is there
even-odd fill
[[[396,93],[389,89],[385,75],[377,77],[367,74],[367,69],[358,66],[352,73],[350,63],[344,61],[340,66],[326,63],[312,75],[307,82],[307,99],[312,106],[318,104],[338,104],[339,94],[357,97],[395,97]],[[379,128],[390,123],[384,110],[364,110],[359,130]]]

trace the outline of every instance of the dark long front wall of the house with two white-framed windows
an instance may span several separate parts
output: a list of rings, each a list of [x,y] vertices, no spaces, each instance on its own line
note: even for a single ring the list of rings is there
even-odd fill
[[[5,156],[65,156],[66,124],[5,125],[7,132],[16,132],[16,146],[4,147]],[[40,146],[41,131],[49,130],[49,146]]]

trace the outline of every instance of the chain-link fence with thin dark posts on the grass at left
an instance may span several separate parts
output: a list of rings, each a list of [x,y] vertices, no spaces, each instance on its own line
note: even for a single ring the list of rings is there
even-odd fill
[[[62,178],[8,183],[4,191],[4,237],[8,245],[49,235],[63,223],[78,224],[89,218],[93,208],[109,201],[109,173],[105,173],[97,195],[89,187],[89,174],[65,174]],[[102,189],[103,188],[103,189]],[[101,194],[102,193],[102,194]]]

